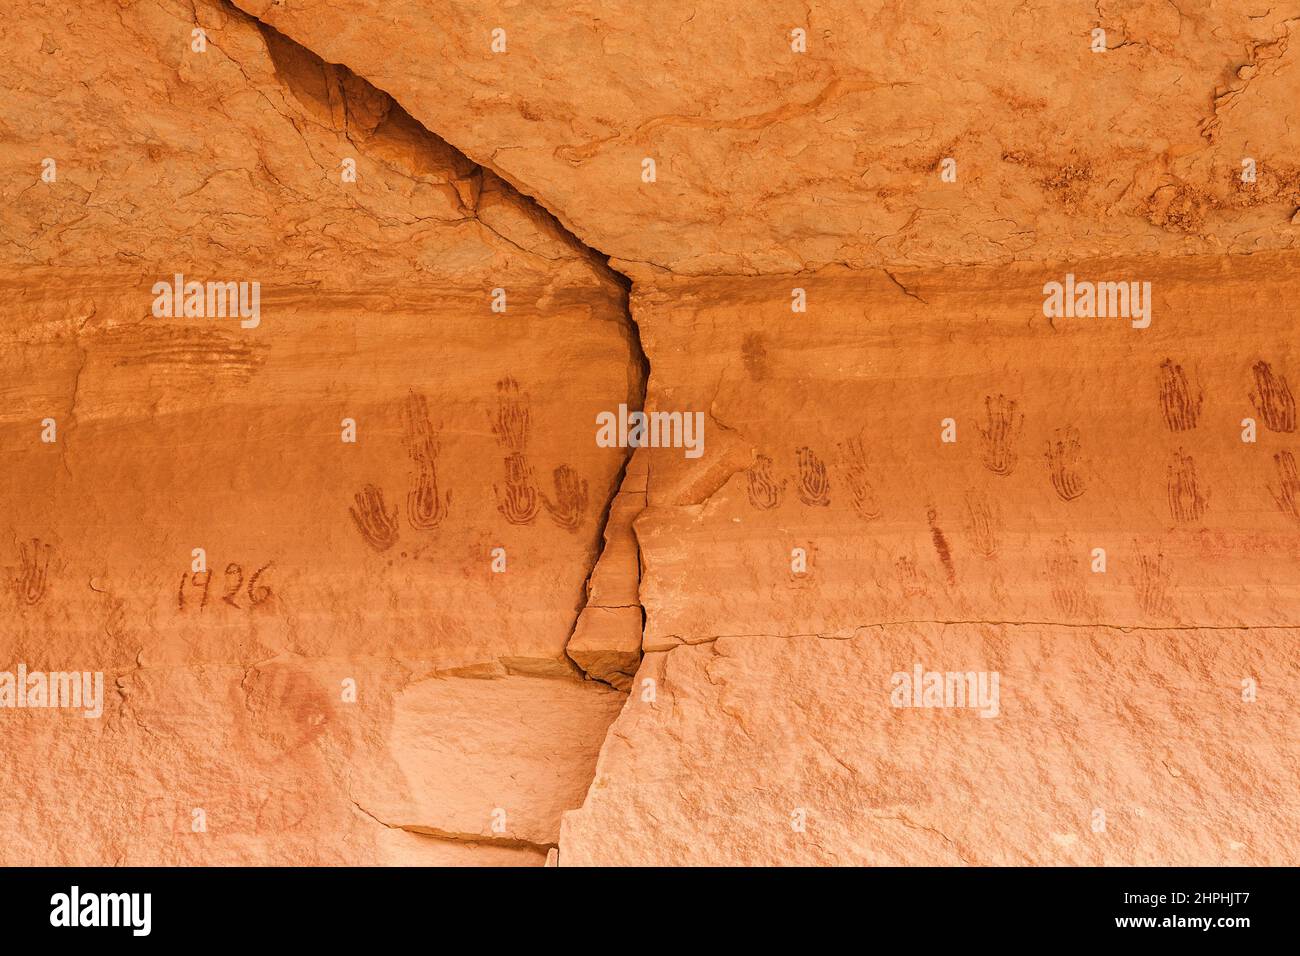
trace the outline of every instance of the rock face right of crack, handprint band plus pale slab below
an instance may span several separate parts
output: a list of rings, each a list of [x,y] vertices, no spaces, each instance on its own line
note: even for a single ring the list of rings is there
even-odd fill
[[[705,454],[638,453],[651,653],[562,861],[1294,864],[1294,265],[1071,267],[1147,328],[1054,267],[638,293]]]

